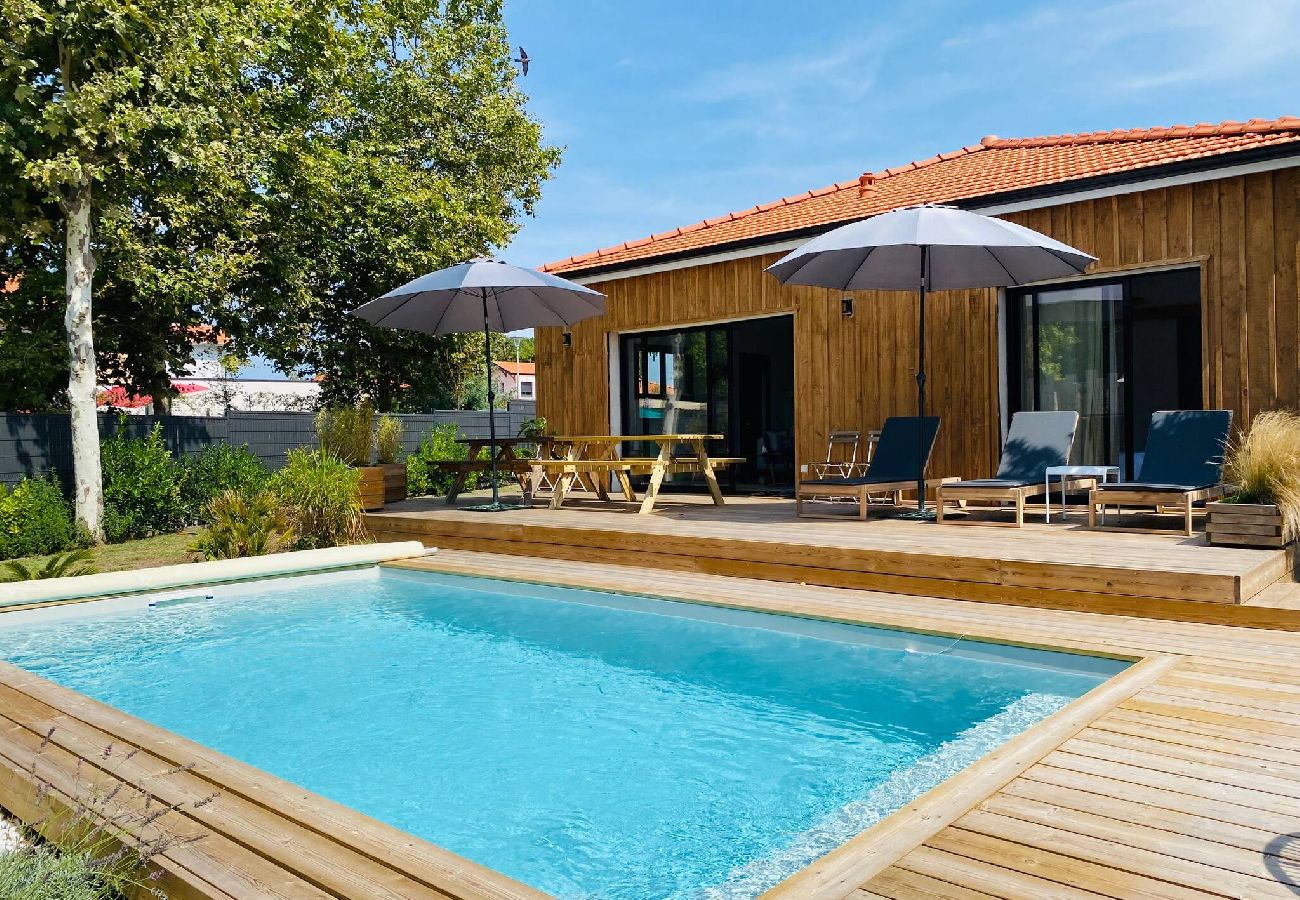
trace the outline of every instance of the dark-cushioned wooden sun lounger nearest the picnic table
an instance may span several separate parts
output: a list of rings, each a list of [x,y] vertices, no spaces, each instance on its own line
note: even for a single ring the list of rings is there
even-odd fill
[[[930,464],[930,454],[935,449],[939,434],[939,417],[927,416],[924,424],[916,416],[892,416],[885,420],[880,442],[872,455],[867,473],[852,479],[805,479],[794,492],[794,511],[801,516],[811,516],[805,511],[803,501],[815,498],[852,497],[858,502],[858,518],[867,518],[870,494],[893,494],[894,503],[905,490],[916,486],[920,472],[916,471],[918,445],[924,449],[924,472]],[[930,479],[927,486],[940,485],[957,479]],[[919,503],[918,498],[918,503]]]

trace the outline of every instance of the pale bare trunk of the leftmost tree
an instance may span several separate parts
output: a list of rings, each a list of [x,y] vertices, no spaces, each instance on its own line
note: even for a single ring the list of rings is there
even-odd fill
[[[77,520],[96,542],[104,540],[104,486],[99,463],[99,417],[95,412],[95,339],[91,332],[91,281],[95,255],[90,243],[91,186],[78,185],[64,205],[68,221],[68,406],[73,429],[73,486]]]

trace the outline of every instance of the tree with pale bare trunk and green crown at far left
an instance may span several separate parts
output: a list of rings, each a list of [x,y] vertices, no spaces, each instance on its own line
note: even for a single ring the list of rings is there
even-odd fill
[[[246,176],[256,155],[229,137],[240,134],[254,109],[248,82],[264,70],[257,48],[269,7],[0,0],[6,30],[0,239],[18,248],[10,259],[22,250],[47,252],[22,273],[32,285],[44,272],[64,273],[74,498],[77,518],[95,537],[103,536],[91,302],[103,246],[96,237],[134,230],[155,243],[156,235],[172,235],[178,250],[202,260],[198,235],[177,230],[166,204],[156,208],[148,199],[168,195],[159,186],[181,189],[173,198],[226,196],[222,185]]]

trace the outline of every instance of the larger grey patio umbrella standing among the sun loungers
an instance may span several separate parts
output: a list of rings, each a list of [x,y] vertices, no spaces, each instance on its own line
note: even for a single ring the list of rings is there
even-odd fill
[[[784,285],[906,290],[920,295],[916,415],[926,415],[926,293],[1008,287],[1083,273],[1096,258],[1034,229],[956,207],[923,204],[850,222],[767,267]],[[926,511],[924,443],[916,509]]]

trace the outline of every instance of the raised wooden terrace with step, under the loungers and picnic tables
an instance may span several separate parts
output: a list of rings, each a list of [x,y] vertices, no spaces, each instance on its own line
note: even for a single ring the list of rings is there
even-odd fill
[[[1088,531],[1078,512],[1065,523],[1011,529],[863,523],[852,505],[826,506],[844,520],[796,519],[785,499],[733,497],[715,507],[707,497],[675,494],[645,516],[620,502],[482,514],[413,499],[367,522],[380,540],[447,549],[1300,629],[1300,603],[1254,602],[1291,583],[1294,558],[1280,550],[1209,546],[1204,536]]]

